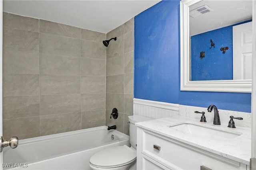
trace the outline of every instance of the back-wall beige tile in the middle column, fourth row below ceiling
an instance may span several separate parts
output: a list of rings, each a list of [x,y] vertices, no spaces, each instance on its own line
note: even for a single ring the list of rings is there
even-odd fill
[[[78,94],[80,76],[40,75],[40,94]]]

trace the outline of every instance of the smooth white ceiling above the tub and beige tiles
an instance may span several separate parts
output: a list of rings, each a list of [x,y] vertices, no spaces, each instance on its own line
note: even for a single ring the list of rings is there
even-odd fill
[[[3,11],[108,33],[160,0],[4,0]]]

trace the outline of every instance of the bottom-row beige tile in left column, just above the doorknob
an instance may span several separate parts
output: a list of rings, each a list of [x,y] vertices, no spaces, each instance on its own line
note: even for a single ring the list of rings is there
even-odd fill
[[[26,139],[40,136],[39,116],[17,119],[3,119],[3,136],[9,140],[13,136]]]

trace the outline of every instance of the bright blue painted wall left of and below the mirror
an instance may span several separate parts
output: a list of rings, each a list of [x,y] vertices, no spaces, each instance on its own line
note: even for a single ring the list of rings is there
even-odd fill
[[[180,1],[134,18],[134,98],[250,112],[250,93],[180,91]]]

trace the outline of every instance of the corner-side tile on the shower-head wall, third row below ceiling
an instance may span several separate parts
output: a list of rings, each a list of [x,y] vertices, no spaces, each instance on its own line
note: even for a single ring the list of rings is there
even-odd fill
[[[124,74],[124,55],[107,59],[106,64],[107,76]]]

